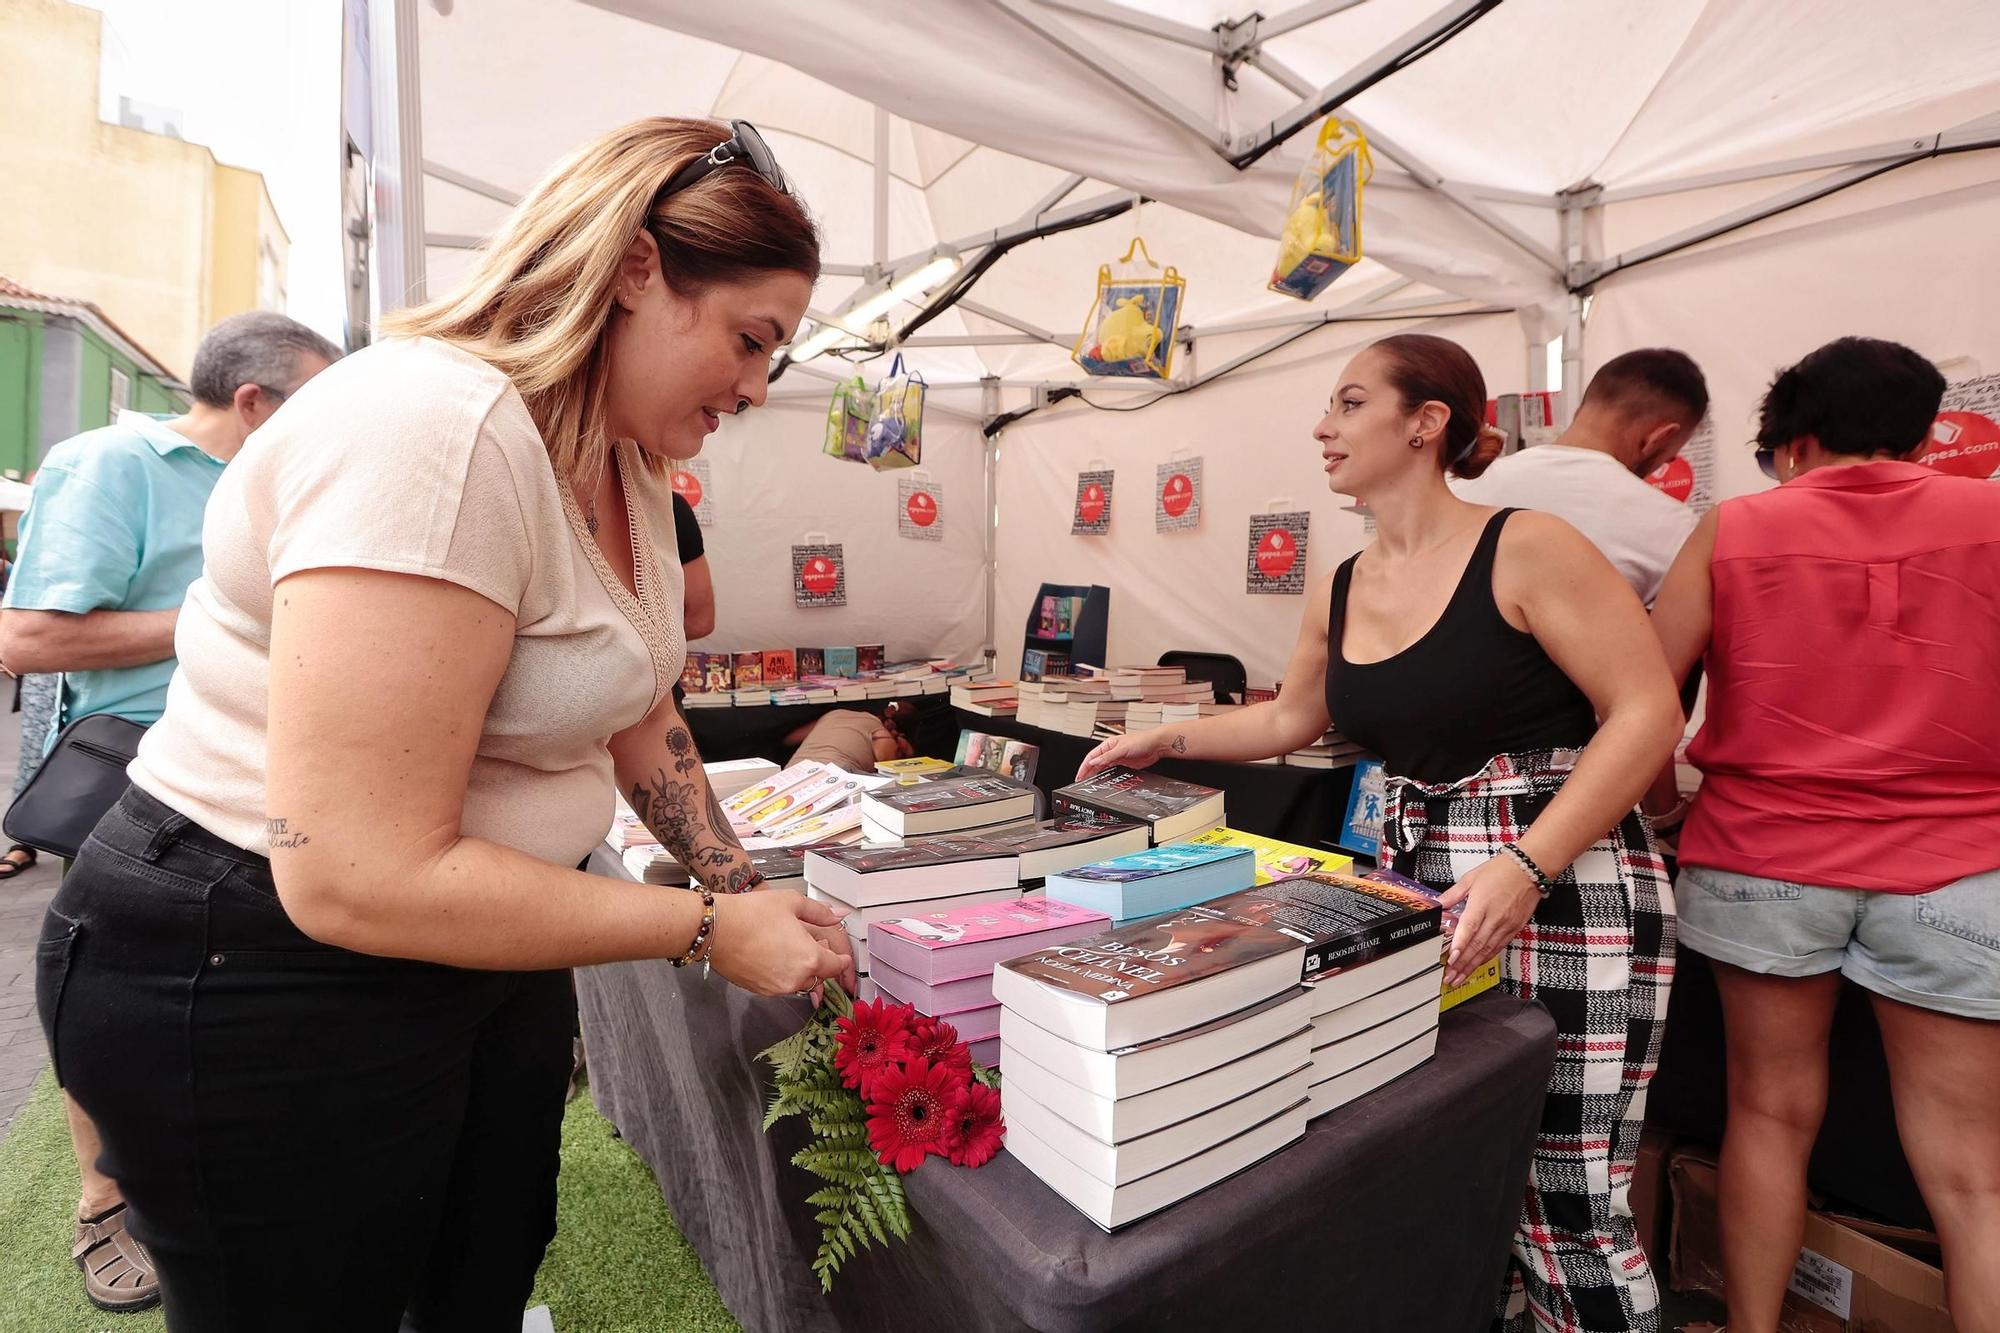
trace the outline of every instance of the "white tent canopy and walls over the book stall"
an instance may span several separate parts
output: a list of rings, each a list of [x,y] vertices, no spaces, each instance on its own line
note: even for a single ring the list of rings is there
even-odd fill
[[[974,262],[996,240],[1156,200],[1138,228],[1188,278],[1194,334],[1172,388],[1200,392],[1130,418],[1064,402],[982,448],[974,424],[1046,402],[1038,386],[1082,386],[1096,406],[1162,392],[1090,380],[1068,358],[1096,266],[1126,248],[1134,218],[1022,240],[902,348],[938,386],[926,462],[958,522],[896,598],[754,608],[784,586],[786,534],[838,526],[816,520],[828,486],[892,514],[894,480],[852,464],[816,460],[798,482],[824,380],[852,368],[812,358],[774,386],[762,422],[730,422],[718,484],[758,504],[712,532],[726,548],[718,646],[812,642],[808,628],[848,642],[838,616],[852,614],[854,634],[910,636],[892,652],[998,638],[1012,669],[1006,630],[1042,578],[1120,588],[1112,656],[1226,646],[1192,638],[1198,616],[1162,610],[1170,586],[1140,592],[1158,582],[1146,570],[1186,566],[1174,586],[1198,604],[1242,598],[1242,508],[1284,494],[1314,510],[1314,572],[1358,544],[1358,520],[1294,466],[1302,450],[1276,442],[1304,440],[1328,356],[1402,326],[1382,320],[1448,318],[1494,392],[1544,386],[1540,348],[1558,336],[1570,388],[1604,356],[1672,336],[1710,368],[1724,438],[1740,438],[1774,364],[1838,332],[1902,336],[1972,368],[2000,360],[1968,300],[2000,278],[1984,254],[2000,164],[1974,152],[2000,144],[2000,6],[1986,0],[1280,0],[1262,18],[1248,0],[376,2],[386,304],[446,284],[556,158],[644,114],[758,124],[822,224],[822,316],[940,252]],[[1306,306],[1264,284],[1330,106],[1372,138],[1370,258]],[[890,326],[918,312],[900,306]],[[1218,370],[1242,386],[1214,384]],[[1266,434],[1270,448],[1252,446]],[[790,464],[774,466],[778,448]],[[1154,536],[1152,466],[1186,448],[1210,460],[1214,520],[1198,538]],[[1120,500],[1120,536],[1094,544],[1066,536],[1062,500],[1090,456],[1122,464],[1138,492]],[[1722,492],[1750,484],[1724,464]],[[892,528],[846,540],[850,586],[908,562]],[[986,606],[966,608],[982,578],[998,584],[990,636]],[[1268,681],[1296,600],[1250,602],[1228,618],[1248,616],[1258,646],[1240,654]],[[1148,624],[1162,616],[1166,628]]]

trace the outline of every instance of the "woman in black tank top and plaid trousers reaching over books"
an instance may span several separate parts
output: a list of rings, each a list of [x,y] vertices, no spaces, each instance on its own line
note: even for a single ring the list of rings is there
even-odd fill
[[[1576,528],[1446,488],[1498,454],[1484,406],[1446,338],[1396,334],[1348,362],[1314,438],[1376,536],[1308,600],[1278,699],[1106,741],[1080,777],[1284,755],[1330,721],[1380,755],[1384,861],[1462,913],[1446,979],[1498,955],[1506,989],[1560,1031],[1500,1323],[1652,1333],[1626,1187],[1674,917],[1634,803],[1682,715],[1646,610]]]

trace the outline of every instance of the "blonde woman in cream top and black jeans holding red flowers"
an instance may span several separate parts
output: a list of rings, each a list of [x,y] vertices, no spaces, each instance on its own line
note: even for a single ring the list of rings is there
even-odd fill
[[[764,402],[818,238],[756,130],[588,144],[216,490],[166,717],[44,927],[58,1077],[168,1327],[518,1327],[554,1233],[562,969],[852,981],[686,723],[664,472]],[[572,867],[612,785],[706,891]]]

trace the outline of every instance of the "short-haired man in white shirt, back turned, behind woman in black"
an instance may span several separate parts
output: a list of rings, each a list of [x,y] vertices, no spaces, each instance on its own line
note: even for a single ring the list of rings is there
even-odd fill
[[[1590,376],[1576,420],[1554,444],[1508,454],[1452,490],[1474,504],[1556,514],[1652,606],[1700,514],[1644,478],[1674,460],[1706,414],[1708,382],[1686,352],[1626,352]]]

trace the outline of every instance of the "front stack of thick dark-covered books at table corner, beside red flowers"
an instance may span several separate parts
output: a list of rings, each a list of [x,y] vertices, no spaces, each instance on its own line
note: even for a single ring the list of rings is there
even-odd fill
[[[1304,945],[1174,913],[1008,959],[1008,1151],[1112,1231],[1286,1147],[1312,1075]]]

